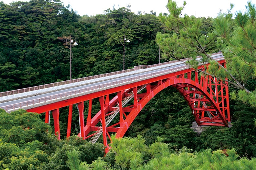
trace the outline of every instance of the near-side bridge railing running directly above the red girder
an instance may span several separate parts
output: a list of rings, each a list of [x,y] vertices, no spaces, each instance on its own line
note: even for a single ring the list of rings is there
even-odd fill
[[[221,59],[224,59],[224,57],[220,57],[216,60],[221,60]],[[71,96],[71,95],[78,95],[78,94],[81,94],[81,93],[96,91],[96,90],[99,90],[99,89],[102,89],[102,88],[107,88],[107,87],[122,84],[122,83],[136,81],[136,80],[139,80],[139,79],[142,79],[142,78],[152,77],[152,76],[156,76],[156,75],[160,75],[160,74],[163,75],[163,74],[175,72],[175,71],[178,71],[178,70],[185,70],[185,69],[188,69],[188,68],[189,68],[189,66],[187,66],[187,65],[179,66],[177,68],[171,68],[171,69],[168,69],[168,70],[158,71],[158,72],[154,72],[154,73],[150,73],[150,74],[146,74],[146,75],[135,76],[135,77],[126,78],[126,79],[123,79],[123,80],[118,80],[118,81],[114,81],[114,82],[110,82],[110,83],[105,83],[105,84],[101,84],[101,85],[87,87],[87,88],[83,88],[83,89],[80,89],[80,90],[75,90],[75,91],[70,91],[70,92],[66,92],[66,93],[60,93],[60,94],[56,94],[56,95],[42,97],[42,98],[38,98],[38,99],[26,101],[26,102],[21,102],[21,103],[17,103],[17,104],[13,104],[13,105],[4,106],[4,107],[1,107],[1,108],[6,110],[6,111],[11,111],[11,110],[15,110],[15,109],[22,109],[24,107],[44,103],[44,102],[47,102],[47,101],[61,99],[63,97],[67,97],[67,96]]]

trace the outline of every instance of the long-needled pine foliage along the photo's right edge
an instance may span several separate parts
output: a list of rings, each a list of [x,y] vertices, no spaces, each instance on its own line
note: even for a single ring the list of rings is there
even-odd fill
[[[232,9],[232,7],[231,7]],[[250,89],[248,82],[255,78],[255,5],[248,2],[247,11],[237,12],[234,20],[228,14],[220,14],[215,20],[216,33],[223,42],[229,72],[246,88],[232,93],[233,99],[255,107],[255,86]],[[250,90],[247,90],[250,89]]]

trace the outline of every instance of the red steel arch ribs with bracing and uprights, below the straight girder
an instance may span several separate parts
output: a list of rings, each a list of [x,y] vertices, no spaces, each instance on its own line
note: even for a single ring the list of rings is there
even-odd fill
[[[105,122],[107,117],[115,106],[120,107],[119,122],[110,126],[105,126],[102,130],[103,143],[107,144],[107,137],[110,138],[110,132],[116,132],[116,137],[123,137],[128,130],[136,116],[143,109],[143,107],[161,90],[168,86],[175,87],[184,99],[187,101],[195,120],[198,125],[209,126],[225,126],[228,127],[230,122],[229,115],[229,101],[228,88],[221,81],[217,81],[210,76],[201,76],[198,80],[198,73],[195,72],[194,80],[191,78],[191,70],[187,73],[182,73],[178,76],[171,76],[161,80],[144,84],[146,92],[138,93],[141,86],[130,88],[126,91],[118,92],[112,100],[109,101],[109,95],[102,97],[101,110],[91,119],[87,118],[87,125],[85,126],[85,139],[95,136],[100,127],[97,126],[99,122]],[[185,78],[186,77],[186,78]],[[143,83],[142,83],[143,84]],[[122,100],[128,96],[129,93],[134,94],[134,101],[129,106],[121,106]],[[89,110],[90,112],[90,110]],[[104,114],[102,114],[104,112]],[[96,131],[89,135],[90,132]]]

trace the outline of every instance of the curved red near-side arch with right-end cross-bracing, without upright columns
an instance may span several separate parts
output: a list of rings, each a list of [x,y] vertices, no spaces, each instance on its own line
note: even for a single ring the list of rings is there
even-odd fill
[[[199,83],[197,83],[191,79],[187,79],[187,78],[175,78],[175,79],[169,78],[167,81],[162,82],[159,86],[152,89],[152,91],[150,93],[145,95],[140,100],[140,102],[138,103],[138,106],[136,108],[133,108],[133,110],[130,112],[130,114],[127,116],[127,118],[124,120],[123,124],[125,126],[122,126],[122,127],[120,126],[120,128],[118,129],[116,137],[117,138],[123,137],[125,132],[128,130],[128,128],[130,127],[130,125],[132,124],[134,119],[136,118],[136,116],[143,109],[143,107],[157,93],[159,93],[161,90],[163,90],[164,88],[166,88],[168,86],[175,87],[181,93],[181,95],[187,101],[190,109],[193,111],[193,115],[195,116],[195,119],[196,119],[196,122],[198,125],[214,125],[214,126],[228,127],[226,118],[222,114],[222,111],[220,110],[219,106],[216,105],[216,102],[214,101],[214,99],[212,97],[210,97],[210,94],[205,89],[203,89]],[[185,90],[185,88],[188,88],[188,89],[194,88],[194,90],[192,90],[192,91]],[[185,91],[187,91],[187,92],[185,93]],[[197,93],[200,95],[204,95],[205,97],[198,100],[196,98],[193,98],[193,97],[187,95],[189,93],[190,94]],[[211,104],[211,106],[208,108],[199,107],[196,105],[197,104],[196,100],[198,100],[197,102],[205,102],[205,103],[207,102],[208,104]],[[196,112],[195,112],[195,108],[197,108]],[[207,110],[207,111],[215,110],[215,111],[217,111],[217,114],[214,115],[214,119],[209,119],[209,118],[203,116],[202,114],[200,114],[200,112],[202,113],[202,110]]]

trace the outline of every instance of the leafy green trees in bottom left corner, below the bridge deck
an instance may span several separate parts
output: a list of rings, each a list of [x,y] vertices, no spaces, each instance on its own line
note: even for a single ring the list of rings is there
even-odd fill
[[[40,140],[49,133],[49,126],[37,113],[25,110],[0,110],[0,117],[0,168],[42,169],[49,155],[41,150],[45,143]]]

